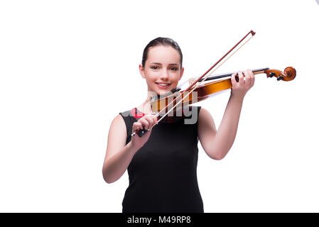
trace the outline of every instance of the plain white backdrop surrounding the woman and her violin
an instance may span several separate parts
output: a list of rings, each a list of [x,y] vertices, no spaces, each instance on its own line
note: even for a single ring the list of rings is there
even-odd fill
[[[127,173],[107,184],[102,163],[112,119],[145,99],[145,45],[176,40],[185,80],[254,30],[217,73],[297,77],[256,76],[223,160],[199,145],[205,212],[318,212],[318,22],[315,0],[1,1],[0,211],[121,212]],[[198,104],[217,127],[228,98]]]

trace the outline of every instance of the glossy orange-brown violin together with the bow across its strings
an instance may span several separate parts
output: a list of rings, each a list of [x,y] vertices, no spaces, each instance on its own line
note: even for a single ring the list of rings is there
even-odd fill
[[[255,34],[256,33],[254,33],[254,31],[249,31],[249,33],[247,33],[247,35],[245,35],[244,38],[239,40],[239,42],[236,45],[234,45],[233,48],[231,48],[214,65],[212,65],[212,67],[210,67],[210,69],[208,69],[204,74],[202,74],[202,76],[198,77],[198,79],[195,79],[195,80],[191,79],[189,81],[190,85],[188,88],[181,91],[180,87],[176,87],[171,92],[168,92],[168,94],[165,94],[163,96],[154,96],[151,99],[151,109],[154,112],[157,112],[156,116],[161,116],[161,118],[159,118],[158,122],[161,121],[165,116],[167,116],[171,111],[175,111],[180,106],[187,106],[188,104],[193,104],[195,102],[207,99],[209,96],[211,96],[212,94],[215,94],[217,92],[221,92],[221,91],[226,90],[226,89],[231,89],[232,82],[231,82],[230,78],[229,79],[222,79],[222,80],[218,80],[218,81],[213,81],[213,82],[208,82],[205,84],[203,84],[203,82],[205,82],[206,80],[209,81],[212,79],[220,79],[222,77],[231,76],[233,73],[221,74],[218,76],[210,77],[210,74],[208,74],[208,73],[211,72],[212,69],[214,67],[216,67],[216,65],[220,64],[220,62],[222,62],[222,60],[227,55],[229,55],[230,52],[235,50],[235,48],[237,48],[237,46],[240,43],[242,43],[249,35],[252,35],[252,36],[246,42],[244,42],[244,44],[247,43]],[[242,44],[239,48],[242,48],[242,46],[244,44]],[[237,50],[239,50],[239,48]],[[235,50],[234,52],[237,52],[237,50]],[[232,54],[229,57],[234,55],[234,52],[232,52]],[[229,57],[227,57],[226,60],[228,60]],[[224,60],[224,62],[226,60]],[[224,62],[222,62],[220,65],[222,65]],[[220,65],[218,67],[220,67]],[[212,72],[214,72],[214,71],[212,71]],[[283,72],[281,72],[280,70],[269,70],[269,68],[252,70],[252,72],[254,74],[264,73],[267,75],[267,77],[276,77],[278,81],[279,80],[291,81],[291,80],[295,79],[295,77],[296,77],[296,70],[293,67],[286,67],[286,69],[283,70]],[[238,77],[235,77],[235,78],[238,82],[239,81]],[[155,126],[155,125],[153,125],[153,126]],[[153,126],[151,126],[151,128],[153,128]],[[151,128],[149,128],[148,130],[141,129],[139,131],[132,133],[131,136],[138,134],[141,137],[145,133],[147,133]]]

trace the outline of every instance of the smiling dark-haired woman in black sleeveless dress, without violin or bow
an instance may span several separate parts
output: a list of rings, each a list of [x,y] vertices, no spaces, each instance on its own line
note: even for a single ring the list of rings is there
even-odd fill
[[[218,130],[210,112],[200,106],[190,106],[198,116],[194,123],[185,123],[183,117],[158,122],[151,94],[166,94],[177,87],[184,72],[182,61],[180,47],[170,38],[148,43],[139,65],[148,90],[146,101],[120,113],[109,128],[102,172],[104,180],[112,183],[128,170],[123,212],[203,212],[196,173],[198,140],[215,160],[225,157],[234,143],[244,96],[254,85],[252,70],[238,72],[237,80],[232,74],[232,90]],[[141,129],[150,130],[141,137],[132,134]]]

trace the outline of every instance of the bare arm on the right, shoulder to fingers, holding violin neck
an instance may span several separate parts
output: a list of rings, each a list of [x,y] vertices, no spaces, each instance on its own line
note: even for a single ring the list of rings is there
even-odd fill
[[[236,82],[232,75],[233,89],[218,131],[210,113],[205,109],[200,110],[198,137],[205,153],[215,160],[225,157],[234,143],[244,95],[254,85],[254,74],[251,70],[245,71],[245,77],[246,81],[244,75],[239,73],[239,82]]]

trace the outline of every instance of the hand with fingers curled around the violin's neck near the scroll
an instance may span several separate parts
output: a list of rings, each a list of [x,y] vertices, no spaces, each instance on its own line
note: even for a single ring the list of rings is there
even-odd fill
[[[232,96],[237,96],[244,99],[245,94],[254,86],[255,76],[252,70],[237,72],[239,81],[236,81],[236,74],[232,74]]]

